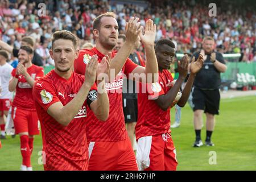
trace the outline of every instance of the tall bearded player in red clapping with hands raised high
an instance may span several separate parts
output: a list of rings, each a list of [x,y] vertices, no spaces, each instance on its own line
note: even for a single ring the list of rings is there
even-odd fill
[[[138,170],[123,117],[122,73],[127,77],[130,73],[138,73],[137,77],[139,74],[148,76],[149,78],[144,80],[145,82],[155,82],[158,79],[156,74],[158,73],[158,64],[154,51],[155,25],[152,20],[148,20],[143,35],[138,20],[138,18],[131,18],[126,23],[126,42],[116,53],[112,51],[118,38],[118,24],[115,14],[106,13],[97,16],[93,22],[96,47],[80,50],[79,57],[75,60],[75,72],[82,74],[90,56],[97,54],[99,62],[109,52],[113,57],[110,64],[110,80],[105,85],[110,104],[109,118],[106,122],[98,122],[93,114],[88,114],[88,118],[86,118],[88,120],[86,136],[89,143],[89,170]],[[127,59],[134,49],[138,35],[140,35],[146,50],[146,68]],[[114,75],[111,74],[113,70]],[[148,73],[152,73],[152,75]],[[155,75],[156,77],[154,77]],[[135,76],[135,78],[137,77]]]

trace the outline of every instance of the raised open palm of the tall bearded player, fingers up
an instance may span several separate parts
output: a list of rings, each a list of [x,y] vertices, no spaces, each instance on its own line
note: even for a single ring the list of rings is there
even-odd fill
[[[142,34],[142,32],[139,34],[142,43],[144,45],[154,46],[155,35],[156,35],[156,26],[153,20],[148,19],[145,25],[144,35]]]

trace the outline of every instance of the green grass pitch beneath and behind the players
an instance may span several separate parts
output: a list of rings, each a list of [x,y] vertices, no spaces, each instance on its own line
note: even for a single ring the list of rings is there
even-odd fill
[[[171,110],[174,121],[175,109]],[[221,100],[220,115],[212,135],[214,147],[193,148],[195,131],[193,113],[187,104],[181,110],[181,126],[172,129],[172,139],[177,152],[177,170],[256,170],[256,97],[237,97]],[[204,127],[201,132],[205,139]],[[36,136],[32,154],[34,170],[43,170],[40,163],[42,138]],[[19,170],[22,157],[19,151],[19,137],[1,140],[0,170]],[[214,154],[214,155],[213,155]],[[214,160],[213,160],[214,159]],[[39,162],[39,163],[38,163]],[[210,162],[210,163],[209,163]]]

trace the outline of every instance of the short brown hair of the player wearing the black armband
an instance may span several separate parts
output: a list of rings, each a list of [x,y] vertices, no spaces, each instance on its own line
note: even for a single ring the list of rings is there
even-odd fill
[[[77,48],[77,38],[74,34],[72,34],[72,32],[67,30],[60,30],[54,32],[54,34],[52,35],[52,48],[55,40],[59,39],[71,40],[73,42],[73,46],[75,47],[75,49]]]

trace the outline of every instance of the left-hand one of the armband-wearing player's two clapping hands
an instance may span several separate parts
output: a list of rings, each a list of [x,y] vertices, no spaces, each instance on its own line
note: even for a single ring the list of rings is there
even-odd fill
[[[92,86],[94,84],[96,80],[97,65],[98,65],[98,56],[93,55],[89,63],[86,65],[84,84],[88,84],[89,86]]]

